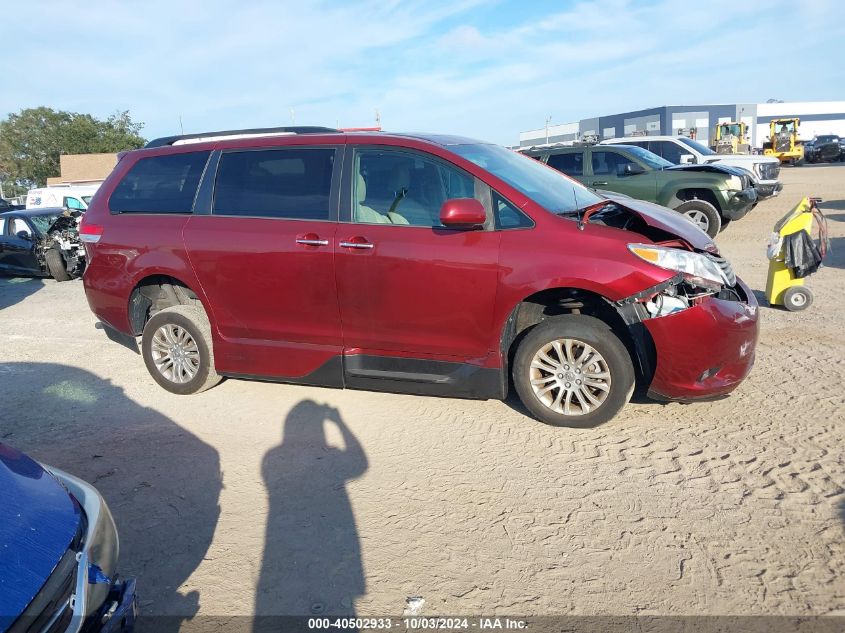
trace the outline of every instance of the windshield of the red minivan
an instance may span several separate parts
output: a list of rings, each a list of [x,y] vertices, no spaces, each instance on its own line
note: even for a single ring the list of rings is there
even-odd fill
[[[552,213],[574,214],[604,200],[559,171],[498,145],[452,145],[449,149],[501,178]]]

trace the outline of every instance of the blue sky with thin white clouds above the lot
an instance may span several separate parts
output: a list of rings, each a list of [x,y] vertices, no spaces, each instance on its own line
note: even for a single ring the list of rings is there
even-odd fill
[[[0,116],[129,110],[152,138],[378,109],[514,144],[547,116],[843,99],[840,1],[33,1],[5,12]]]

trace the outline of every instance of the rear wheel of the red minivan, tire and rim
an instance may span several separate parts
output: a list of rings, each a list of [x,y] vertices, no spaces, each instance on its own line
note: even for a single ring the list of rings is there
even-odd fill
[[[144,326],[141,353],[153,380],[170,393],[199,393],[221,380],[214,369],[211,325],[198,306],[156,313]]]

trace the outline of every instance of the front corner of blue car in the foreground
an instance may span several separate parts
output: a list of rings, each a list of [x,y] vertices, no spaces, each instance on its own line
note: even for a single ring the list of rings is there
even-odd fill
[[[135,581],[90,484],[0,444],[0,633],[132,631]]]

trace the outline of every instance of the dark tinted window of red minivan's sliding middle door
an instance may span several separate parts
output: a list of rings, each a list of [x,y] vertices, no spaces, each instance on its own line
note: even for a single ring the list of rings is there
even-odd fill
[[[226,152],[214,187],[215,215],[328,220],[334,149]]]

